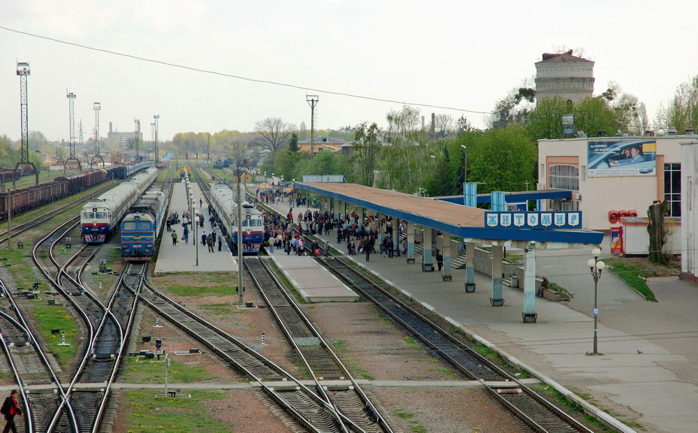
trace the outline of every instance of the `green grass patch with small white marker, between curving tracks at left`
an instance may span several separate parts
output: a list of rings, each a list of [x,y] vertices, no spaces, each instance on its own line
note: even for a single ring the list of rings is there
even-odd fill
[[[48,342],[49,351],[54,354],[61,365],[66,364],[70,358],[73,358],[77,351],[75,337],[77,336],[77,326],[75,318],[68,314],[65,307],[47,307],[45,305],[37,305],[34,307],[34,316],[36,317],[41,335]],[[52,334],[51,330],[59,329],[66,333],[66,343],[70,346],[59,346],[61,342],[60,334]]]

